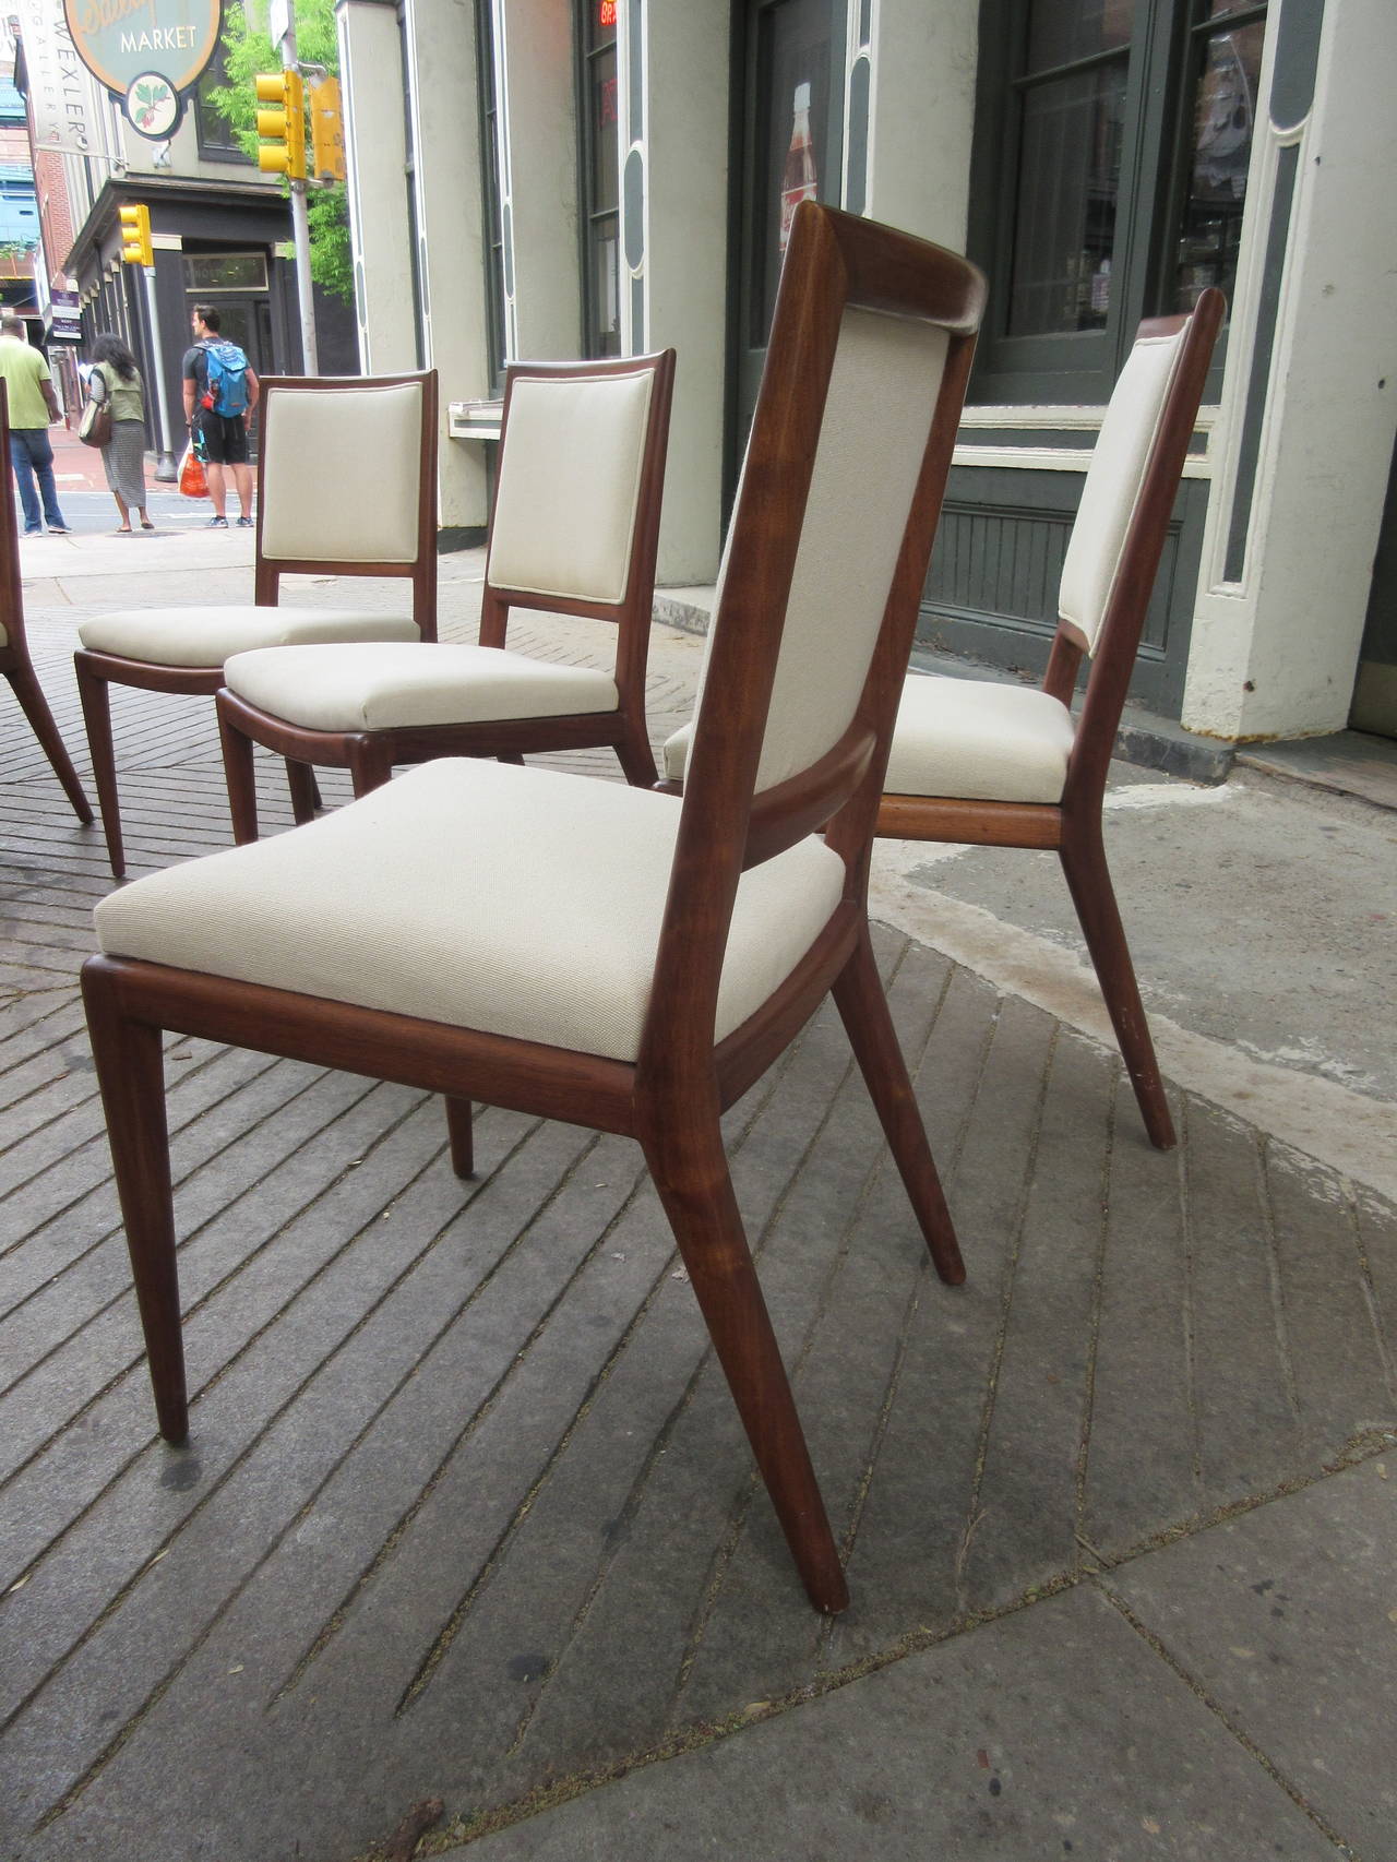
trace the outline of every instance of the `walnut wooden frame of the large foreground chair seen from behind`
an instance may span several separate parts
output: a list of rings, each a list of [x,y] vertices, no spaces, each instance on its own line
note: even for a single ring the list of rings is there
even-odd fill
[[[838,1549],[743,1235],[719,1115],[833,991],[935,1268],[948,1283],[963,1279],[870,944],[866,886],[892,719],[982,305],[983,279],[967,261],[814,201],[799,207],[747,451],[745,492],[730,527],[682,801],[557,771],[438,762],[309,827],[171,868],[102,901],[104,955],[88,961],[84,994],[158,1424],[170,1441],[184,1439],[188,1404],[164,1119],[166,1028],[441,1093],[451,1156],[462,1175],[471,1169],[471,1100],[637,1138],[799,1575],[818,1609],[844,1609],[848,1588]],[[870,352],[881,371],[875,406],[864,393],[868,376],[857,374],[857,358]],[[846,367],[846,354],[855,356],[855,365]],[[916,380],[913,367],[920,371]],[[840,415],[825,419],[834,382]],[[888,417],[900,423],[902,451],[896,467],[883,471]],[[849,425],[859,426],[855,439],[848,436]],[[836,462],[829,469],[821,467],[825,447]],[[866,469],[870,464],[875,469]],[[861,477],[879,479],[875,490],[862,493],[862,508],[874,516],[868,531],[877,536],[864,540],[861,527],[851,525],[849,534],[831,540],[825,519],[846,508]],[[810,521],[808,512],[816,514]],[[818,585],[831,551],[853,559],[848,573],[861,590],[853,620],[842,596],[820,605]],[[829,654],[814,655],[821,642]],[[838,659],[836,676],[829,659]],[[816,724],[808,721],[801,676],[823,681],[825,696],[833,693]],[[162,946],[143,942],[132,925],[143,922],[149,929],[156,920],[168,925],[171,901],[183,899],[188,924],[209,922],[207,912],[190,909],[188,881],[199,877],[197,870],[205,870],[205,881],[222,884],[224,875],[266,871],[268,862],[283,860],[291,862],[294,884],[304,886],[304,849],[311,836],[315,845],[339,849],[343,836],[358,832],[356,812],[361,823],[399,819],[414,808],[414,793],[436,793],[434,786],[447,776],[468,799],[473,786],[488,786],[501,797],[516,791],[516,784],[520,793],[549,784],[549,795],[566,789],[577,808],[596,808],[609,797],[607,806],[630,810],[626,819],[643,812],[646,821],[659,823],[658,933],[654,946],[646,946],[648,992],[639,998],[639,1035],[628,1048],[630,1059],[142,955],[142,948]],[[507,812],[503,801],[497,812]],[[516,836],[512,816],[505,827]],[[630,857],[624,845],[617,858]],[[358,892],[371,884],[361,860],[345,862],[339,853],[335,858],[341,877]],[[583,853],[579,864],[587,858]],[[784,979],[760,985],[760,1007],[743,1009],[723,1033],[721,985],[734,903],[751,896],[743,888],[764,862],[782,858],[818,862],[827,875],[821,886],[827,883],[829,892],[820,894],[812,920],[820,929],[795,946],[803,953],[792,959]],[[782,875],[792,868],[767,871]],[[482,883],[481,875],[462,871],[462,896]],[[551,873],[549,884],[555,884]],[[142,896],[149,901],[143,920]],[[279,886],[276,896],[285,896]],[[395,909],[400,911],[397,901]],[[777,909],[780,914],[788,909],[784,883]],[[322,901],[309,901],[307,911],[319,925]],[[488,911],[495,914],[494,899]],[[548,935],[566,946],[566,896],[557,897],[555,916],[559,929],[549,927]],[[454,914],[447,925],[454,937]],[[399,951],[414,951],[412,925],[400,929]],[[633,946],[631,929],[628,918],[622,933]],[[475,976],[469,948],[460,950],[460,966],[462,976]]]

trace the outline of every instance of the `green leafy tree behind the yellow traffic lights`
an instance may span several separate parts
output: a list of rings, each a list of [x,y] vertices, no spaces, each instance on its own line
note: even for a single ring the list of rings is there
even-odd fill
[[[296,58],[304,65],[322,65],[339,74],[339,39],[335,37],[333,0],[296,0]],[[207,82],[205,97],[233,128],[244,155],[257,158],[257,97],[253,78],[259,71],[278,71],[281,52],[266,32],[266,0],[238,6],[229,0],[224,9],[224,76],[225,82]],[[354,302],[354,259],[348,236],[348,205],[343,182],[332,188],[305,190],[305,222],[311,233],[311,277],[322,290],[346,304]]]

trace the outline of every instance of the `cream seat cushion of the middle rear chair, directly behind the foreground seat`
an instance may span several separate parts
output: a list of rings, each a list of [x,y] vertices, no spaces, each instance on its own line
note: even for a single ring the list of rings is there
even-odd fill
[[[609,672],[525,659],[501,646],[278,646],[235,654],[229,691],[305,730],[395,730],[615,711]]]

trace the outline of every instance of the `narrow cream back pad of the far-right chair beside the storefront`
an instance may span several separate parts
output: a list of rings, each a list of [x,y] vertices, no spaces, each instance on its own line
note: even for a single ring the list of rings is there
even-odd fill
[[[1185,330],[1134,343],[1092,452],[1058,588],[1058,614],[1082,631],[1088,652],[1095,652],[1106,618]]]

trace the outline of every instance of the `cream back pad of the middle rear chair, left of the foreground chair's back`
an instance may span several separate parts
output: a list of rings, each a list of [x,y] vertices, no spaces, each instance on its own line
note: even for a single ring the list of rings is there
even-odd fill
[[[486,577],[620,601],[630,579],[654,372],[510,382]]]

